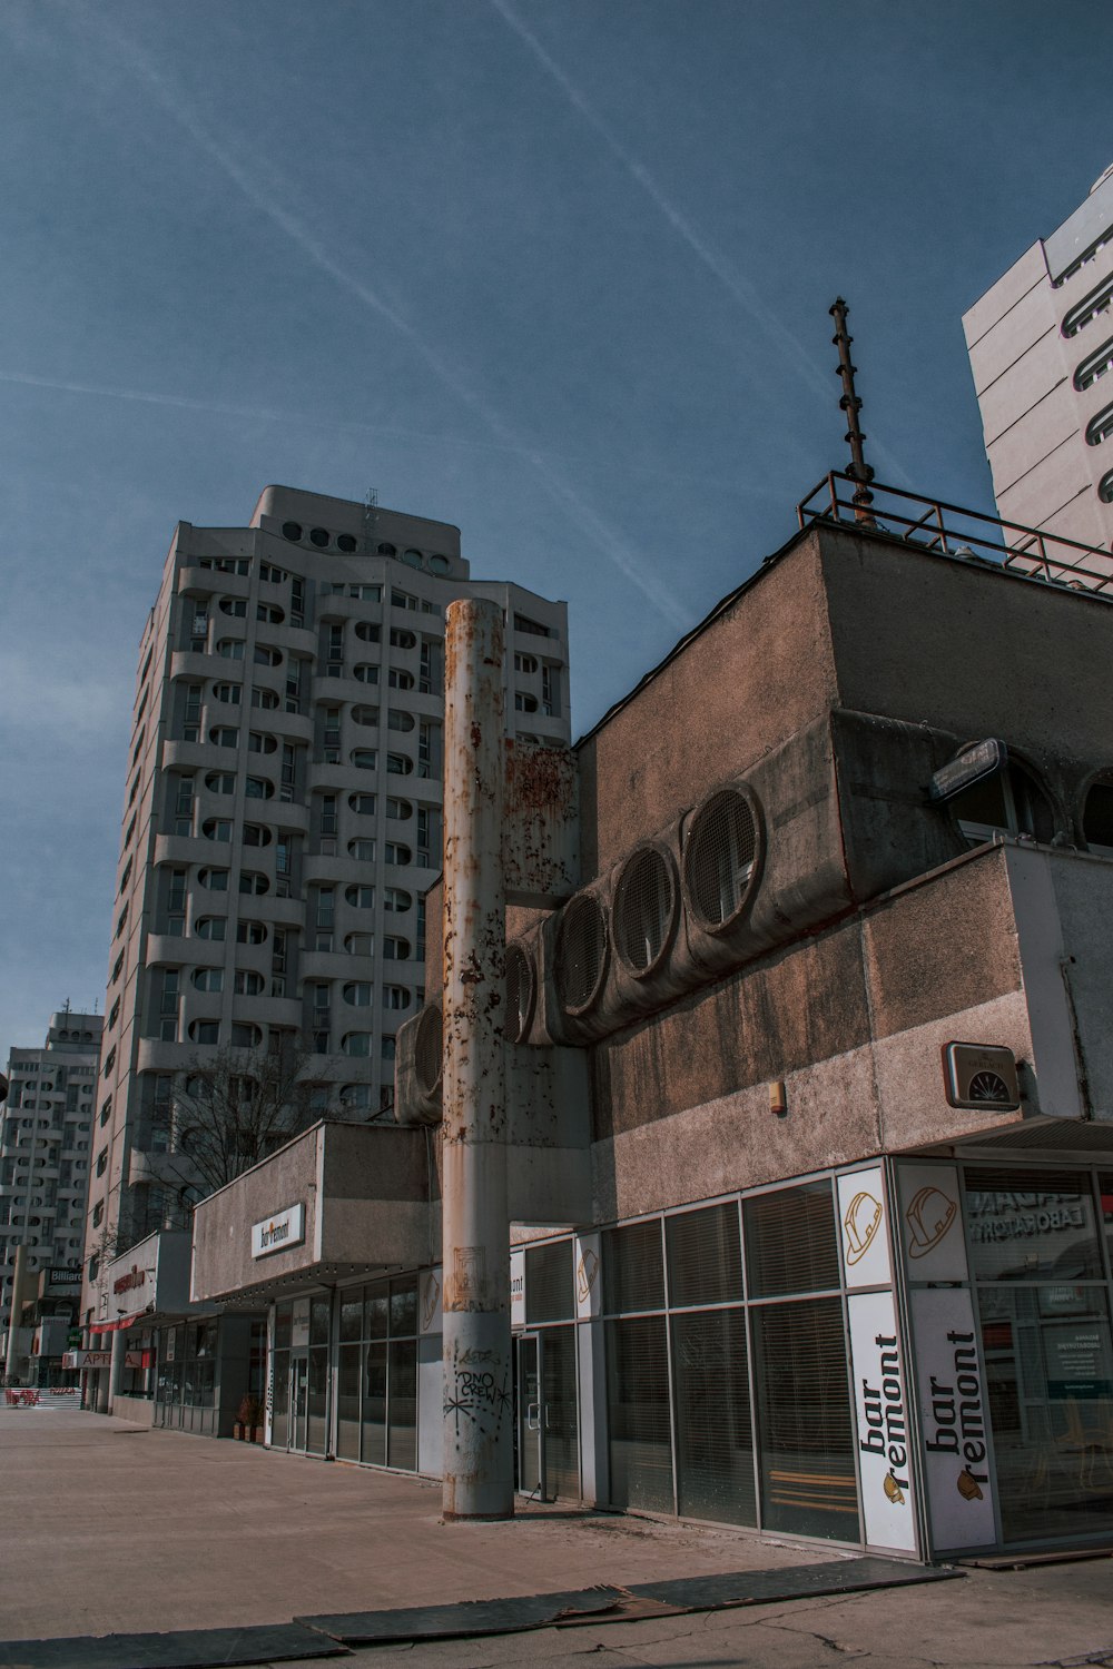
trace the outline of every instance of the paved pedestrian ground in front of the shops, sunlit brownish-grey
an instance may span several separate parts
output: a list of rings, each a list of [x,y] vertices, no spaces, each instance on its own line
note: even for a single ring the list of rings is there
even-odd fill
[[[829,1559],[729,1530],[531,1509],[439,1522],[439,1487],[68,1407],[0,1410],[0,1639],[205,1629]],[[544,1661],[1113,1664],[1108,1559],[642,1622],[372,1647],[379,1669]]]

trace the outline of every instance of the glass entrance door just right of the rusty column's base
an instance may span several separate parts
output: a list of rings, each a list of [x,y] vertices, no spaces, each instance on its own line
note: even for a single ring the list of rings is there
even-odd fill
[[[517,1487],[537,1500],[581,1494],[574,1327],[517,1339]]]

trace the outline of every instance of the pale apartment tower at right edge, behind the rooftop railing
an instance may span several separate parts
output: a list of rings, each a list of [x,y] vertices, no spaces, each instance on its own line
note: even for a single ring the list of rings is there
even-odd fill
[[[963,327],[1001,519],[1088,546],[1055,561],[1111,576],[1113,165]]]

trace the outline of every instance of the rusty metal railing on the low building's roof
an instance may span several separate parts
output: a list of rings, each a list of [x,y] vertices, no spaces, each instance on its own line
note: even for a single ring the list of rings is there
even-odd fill
[[[818,521],[853,522],[863,529],[904,539],[908,544],[944,556],[981,557],[986,562],[1028,574],[1073,591],[1101,591],[1113,598],[1113,556],[1093,546],[1065,539],[1061,534],[1020,522],[983,516],[959,504],[928,499],[903,487],[886,487],[871,481],[873,502],[854,504],[858,482],[841,469],[833,469],[796,506],[801,527]]]

